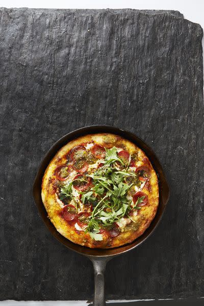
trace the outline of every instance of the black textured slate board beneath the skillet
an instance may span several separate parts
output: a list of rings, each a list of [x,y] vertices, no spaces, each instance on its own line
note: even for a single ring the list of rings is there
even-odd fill
[[[38,165],[90,124],[136,133],[171,187],[164,218],[107,266],[107,298],[200,297],[204,290],[202,29],[173,11],[0,9],[0,299],[91,299],[88,259],[46,230]]]

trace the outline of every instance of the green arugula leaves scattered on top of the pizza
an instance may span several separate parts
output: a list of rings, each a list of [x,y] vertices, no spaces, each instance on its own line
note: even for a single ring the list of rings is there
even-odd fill
[[[128,185],[124,182],[127,176],[136,177],[137,174],[130,172],[131,156],[127,165],[118,158],[116,147],[106,149],[104,165],[90,176],[93,180],[93,187],[88,192],[82,193],[82,202],[86,205],[91,203],[93,211],[91,213],[88,226],[85,232],[89,233],[92,239],[103,240],[100,234],[100,227],[110,228],[114,222],[119,221],[124,215],[130,212],[132,199],[128,199],[127,192],[134,185]],[[118,170],[117,164],[122,165],[122,170]],[[71,197],[72,182],[61,188],[62,197]],[[138,198],[134,209],[139,209],[138,204],[144,197]]]

